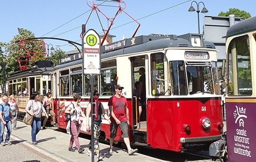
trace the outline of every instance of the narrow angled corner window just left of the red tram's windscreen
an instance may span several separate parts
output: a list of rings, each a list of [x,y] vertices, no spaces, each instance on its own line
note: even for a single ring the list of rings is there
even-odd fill
[[[190,81],[190,73],[187,72],[186,75],[184,61],[171,61],[169,62],[169,66],[171,71],[173,94],[187,95],[187,80]]]

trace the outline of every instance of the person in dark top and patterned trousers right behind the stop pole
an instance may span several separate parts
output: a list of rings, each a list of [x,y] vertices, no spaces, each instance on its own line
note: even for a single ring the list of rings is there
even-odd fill
[[[103,115],[105,117],[106,120],[108,120],[109,124],[111,123],[108,114],[106,113],[105,109],[103,108],[103,104],[100,103],[99,100],[99,96],[100,93],[98,93],[98,90],[94,90],[93,92],[93,102],[95,102],[96,104],[96,112],[94,112],[96,114],[96,119],[93,120],[93,137],[94,137],[94,151],[96,152],[96,156],[98,161],[102,160],[103,157],[100,154],[100,145],[99,145],[99,137],[100,137],[100,130],[101,130],[101,115]],[[90,98],[90,101],[87,105],[87,109],[86,109],[86,129],[87,132],[89,132],[92,128],[90,128],[89,126],[89,117],[91,114],[91,110],[92,110],[92,96]],[[95,106],[95,105],[94,105]],[[93,107],[94,107],[93,106]],[[90,141],[89,144],[89,150],[87,151],[88,156],[92,156],[92,141]]]

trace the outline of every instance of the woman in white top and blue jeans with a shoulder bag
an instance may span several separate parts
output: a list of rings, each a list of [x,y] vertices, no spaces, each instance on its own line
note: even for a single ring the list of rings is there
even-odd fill
[[[37,145],[36,134],[38,134],[41,129],[41,114],[46,113],[45,108],[43,108],[43,104],[38,101],[38,97],[38,93],[33,92],[26,106],[27,113],[33,116],[33,123],[31,125],[31,136],[33,145]]]

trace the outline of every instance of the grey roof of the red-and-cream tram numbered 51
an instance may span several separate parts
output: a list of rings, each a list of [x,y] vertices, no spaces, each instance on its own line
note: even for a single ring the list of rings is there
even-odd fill
[[[202,35],[187,33],[185,35],[140,35],[126,40],[116,41],[109,45],[101,46],[101,59],[121,56],[122,54],[141,53],[143,51],[152,51],[164,48],[193,48],[191,36],[200,36],[202,47],[215,49],[215,45],[210,41],[203,40]],[[117,47],[113,49],[113,46]],[[109,49],[109,50],[108,50]],[[75,58],[75,59],[74,59]],[[65,61],[67,60],[67,61]],[[74,66],[74,64],[82,64],[81,54],[74,54],[63,59],[62,64],[53,68],[53,70],[62,67]]]

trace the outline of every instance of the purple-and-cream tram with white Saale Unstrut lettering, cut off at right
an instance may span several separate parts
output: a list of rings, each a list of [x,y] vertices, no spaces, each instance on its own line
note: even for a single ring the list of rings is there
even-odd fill
[[[229,28],[226,53],[228,161],[256,161],[256,17]]]

